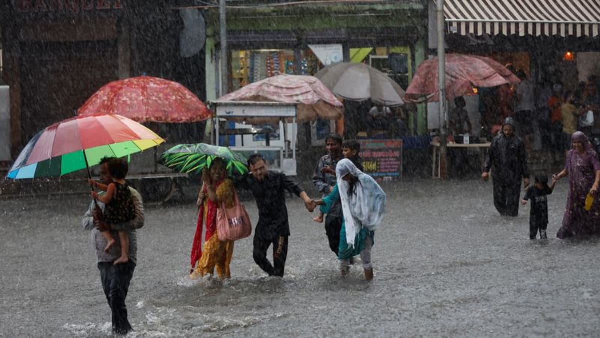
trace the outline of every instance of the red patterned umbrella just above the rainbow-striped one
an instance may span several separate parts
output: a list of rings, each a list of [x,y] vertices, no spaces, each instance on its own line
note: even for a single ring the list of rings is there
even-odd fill
[[[212,117],[211,111],[185,86],[151,76],[108,83],[95,92],[77,113],[118,114],[140,123],[200,122]]]

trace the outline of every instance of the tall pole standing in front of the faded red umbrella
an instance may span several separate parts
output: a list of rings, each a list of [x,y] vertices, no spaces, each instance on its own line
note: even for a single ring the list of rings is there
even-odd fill
[[[440,178],[448,178],[448,111],[446,110],[446,50],[444,25],[444,0],[437,0],[437,74],[440,89]]]

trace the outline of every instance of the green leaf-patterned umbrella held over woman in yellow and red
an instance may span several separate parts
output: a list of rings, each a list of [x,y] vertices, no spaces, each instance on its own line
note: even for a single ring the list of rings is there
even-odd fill
[[[202,174],[202,169],[211,166],[212,161],[223,158],[227,163],[227,173],[246,174],[247,159],[239,152],[232,151],[226,146],[209,145],[206,143],[180,144],[163,152],[160,163],[184,174]]]

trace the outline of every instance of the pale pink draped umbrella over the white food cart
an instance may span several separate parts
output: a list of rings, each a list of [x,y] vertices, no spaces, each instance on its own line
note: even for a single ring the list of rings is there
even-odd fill
[[[298,122],[340,119],[344,105],[314,76],[278,75],[251,83],[220,97],[227,101],[269,101],[296,104]]]

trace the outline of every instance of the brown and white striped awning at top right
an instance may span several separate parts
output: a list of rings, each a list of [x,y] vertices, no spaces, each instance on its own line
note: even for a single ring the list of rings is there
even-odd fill
[[[451,34],[596,37],[600,0],[445,0]]]

